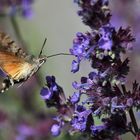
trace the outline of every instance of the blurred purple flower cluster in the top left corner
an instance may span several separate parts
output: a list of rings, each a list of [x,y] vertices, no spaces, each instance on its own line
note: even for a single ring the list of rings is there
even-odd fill
[[[8,15],[15,15],[17,12],[25,18],[32,17],[31,4],[34,0],[0,0],[1,15],[7,13]]]

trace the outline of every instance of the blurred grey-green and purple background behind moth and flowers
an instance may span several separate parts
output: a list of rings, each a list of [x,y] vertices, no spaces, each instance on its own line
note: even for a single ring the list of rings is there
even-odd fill
[[[34,0],[29,17],[21,13],[11,15],[10,6],[2,6],[0,30],[9,34],[28,54],[35,56],[38,56],[46,37],[43,54],[49,56],[59,52],[68,53],[76,32],[90,31],[77,16],[78,7],[73,0]],[[140,0],[110,0],[110,8],[112,25],[117,28],[131,26],[136,37],[133,52],[127,54],[131,60],[127,81],[129,89],[134,80],[140,81]],[[21,87],[15,86],[0,95],[0,140],[79,139],[78,136],[70,137],[66,133],[58,138],[50,136],[55,110],[46,108],[39,95],[46,75],[56,76],[66,95],[72,95],[74,90],[71,83],[80,81],[80,77],[87,76],[90,71],[89,63],[83,62],[80,72],[72,74],[72,59],[71,56],[50,58]],[[140,120],[139,113],[136,113],[136,118]],[[134,138],[128,134],[123,139]]]

